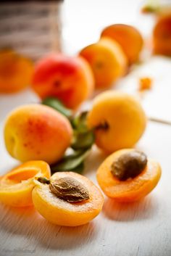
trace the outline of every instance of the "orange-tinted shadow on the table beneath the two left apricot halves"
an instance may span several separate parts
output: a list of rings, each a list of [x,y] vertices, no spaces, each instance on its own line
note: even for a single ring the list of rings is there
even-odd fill
[[[34,207],[7,207],[0,205],[1,230],[9,234],[22,235],[30,241],[37,240],[41,247],[49,249],[71,249],[82,247],[96,238],[94,221],[78,227],[63,227],[49,223]]]

